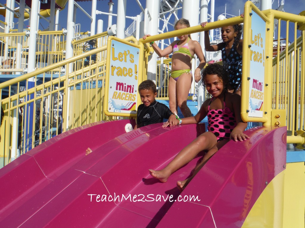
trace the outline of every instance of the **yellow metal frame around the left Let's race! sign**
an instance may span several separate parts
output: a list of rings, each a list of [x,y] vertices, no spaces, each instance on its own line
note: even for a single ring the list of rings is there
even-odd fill
[[[131,43],[129,40],[121,40],[115,36],[109,36],[108,40],[107,40],[107,57],[106,57],[106,61],[107,63],[110,63],[110,54],[111,54],[111,41],[112,40],[116,40],[118,42],[124,43],[126,45],[129,46],[133,46],[136,48],[139,48],[140,53],[139,53],[139,67],[138,67],[138,86],[140,85],[140,83],[145,80],[143,78],[144,77],[144,45],[143,43],[138,42],[138,40],[136,40],[134,37],[132,37],[130,39],[130,41],[133,41],[134,43]],[[138,44],[137,44],[138,43]],[[109,112],[108,111],[108,93],[109,93],[109,78],[110,78],[110,69],[109,69],[109,65],[106,66],[108,68],[108,70],[106,70],[106,85],[105,85],[105,98],[104,100],[107,101],[107,105],[104,104],[104,113],[107,116],[123,116],[123,117],[137,117],[137,114],[130,114],[130,113],[117,113],[117,112]],[[140,96],[137,93],[137,104],[141,104],[141,99]],[[136,107],[136,110],[138,109],[138,107]]]

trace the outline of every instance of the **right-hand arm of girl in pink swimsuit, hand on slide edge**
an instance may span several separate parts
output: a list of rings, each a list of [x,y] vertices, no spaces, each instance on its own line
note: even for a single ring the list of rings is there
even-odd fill
[[[248,123],[245,123],[242,121],[242,117],[240,116],[240,105],[241,105],[241,97],[238,94],[232,94],[230,96],[234,113],[235,113],[235,119],[237,125],[232,130],[230,138],[233,139],[235,142],[243,141],[249,139],[249,136],[247,136],[243,131],[246,129]]]

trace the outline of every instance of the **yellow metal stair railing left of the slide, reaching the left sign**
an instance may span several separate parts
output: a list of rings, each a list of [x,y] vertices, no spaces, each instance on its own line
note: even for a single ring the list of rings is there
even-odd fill
[[[137,42],[133,37],[125,40]],[[0,84],[4,109],[4,122],[0,128],[0,166],[61,132],[117,118],[106,116],[102,109],[105,60],[97,59],[96,63],[83,65],[69,74],[58,71],[66,66],[69,72],[70,63],[84,63],[87,57],[99,54],[106,56],[106,46]]]

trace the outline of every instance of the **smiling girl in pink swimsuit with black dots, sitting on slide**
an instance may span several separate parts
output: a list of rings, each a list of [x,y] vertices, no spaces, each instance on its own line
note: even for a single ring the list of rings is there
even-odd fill
[[[210,64],[201,78],[203,87],[212,95],[212,98],[203,102],[199,112],[195,116],[176,119],[170,116],[163,127],[176,126],[178,124],[199,123],[204,117],[208,117],[208,131],[199,135],[195,140],[182,149],[177,156],[162,170],[150,169],[150,174],[166,182],[167,178],[176,170],[187,164],[201,151],[206,151],[200,164],[195,168],[193,175],[184,181],[177,181],[177,186],[183,190],[200,168],[229,140],[244,141],[249,139],[243,131],[247,127],[240,116],[240,95],[230,93],[226,86],[229,83],[227,72],[219,64]]]

